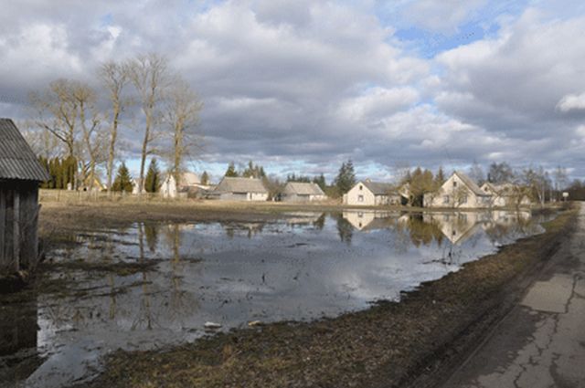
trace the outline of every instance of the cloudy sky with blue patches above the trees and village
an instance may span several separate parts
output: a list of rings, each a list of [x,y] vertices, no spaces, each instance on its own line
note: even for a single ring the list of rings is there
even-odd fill
[[[58,78],[156,52],[204,103],[214,178],[391,180],[409,165],[567,167],[585,178],[585,3],[574,0],[1,0],[0,117]],[[140,116],[127,118],[139,127]],[[136,171],[140,131],[122,133]]]

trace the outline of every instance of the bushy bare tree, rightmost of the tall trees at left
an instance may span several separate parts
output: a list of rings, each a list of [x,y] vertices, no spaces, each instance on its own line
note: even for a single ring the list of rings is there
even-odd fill
[[[168,152],[170,173],[175,176],[176,182],[179,182],[186,157],[193,156],[193,152],[201,146],[201,135],[197,133],[197,125],[202,108],[203,104],[197,98],[197,94],[184,80],[176,79],[169,90],[165,110],[165,121],[172,136]]]

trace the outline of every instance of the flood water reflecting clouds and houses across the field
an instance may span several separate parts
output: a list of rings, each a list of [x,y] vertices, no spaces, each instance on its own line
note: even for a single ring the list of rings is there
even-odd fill
[[[527,213],[364,211],[83,230],[72,236],[76,244],[48,253],[56,264],[79,265],[49,272],[67,287],[41,290],[23,306],[12,344],[0,347],[0,385],[87,381],[104,354],[194,341],[207,321],[229,330],[398,301],[421,282],[540,233],[542,221]],[[104,269],[117,263],[153,265]]]

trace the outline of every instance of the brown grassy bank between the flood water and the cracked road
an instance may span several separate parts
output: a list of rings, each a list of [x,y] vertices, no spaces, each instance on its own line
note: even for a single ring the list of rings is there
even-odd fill
[[[448,363],[478,341],[574,225],[566,211],[546,233],[424,284],[400,303],[335,319],[232,330],[165,351],[117,351],[90,386],[388,387]],[[453,344],[459,349],[453,350]]]

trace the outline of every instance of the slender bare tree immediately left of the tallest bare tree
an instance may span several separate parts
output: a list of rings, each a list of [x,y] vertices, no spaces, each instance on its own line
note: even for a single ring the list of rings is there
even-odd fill
[[[128,71],[118,62],[109,61],[101,64],[99,75],[101,82],[109,92],[112,104],[112,121],[110,123],[110,139],[108,144],[108,161],[106,163],[106,175],[108,192],[112,190],[113,162],[116,154],[116,142],[118,138],[118,126],[120,115],[127,105],[128,100],[122,98],[122,91],[128,83]]]

